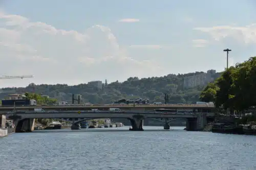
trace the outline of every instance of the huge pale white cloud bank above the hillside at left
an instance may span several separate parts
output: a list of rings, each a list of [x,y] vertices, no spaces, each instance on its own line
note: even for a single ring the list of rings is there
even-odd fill
[[[105,26],[77,32],[0,13],[0,27],[0,59],[4,63],[0,74],[35,76],[23,83],[122,81],[130,76],[155,75],[158,69],[155,62],[131,58]],[[26,85],[14,82],[13,86]]]

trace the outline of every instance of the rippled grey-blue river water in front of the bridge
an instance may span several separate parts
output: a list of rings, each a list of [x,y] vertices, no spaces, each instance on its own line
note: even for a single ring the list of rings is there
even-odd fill
[[[0,169],[256,169],[256,136],[171,128],[14,133],[0,138]]]

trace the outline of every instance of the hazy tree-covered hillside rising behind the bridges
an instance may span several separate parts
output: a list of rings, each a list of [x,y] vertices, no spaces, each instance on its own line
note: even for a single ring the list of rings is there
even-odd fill
[[[50,98],[56,98],[58,101],[67,101],[71,103],[72,93],[81,95],[81,103],[109,104],[120,99],[148,98],[150,102],[164,102],[164,93],[169,94],[169,103],[195,103],[199,101],[199,95],[205,85],[195,86],[193,88],[184,87],[184,78],[205,74],[203,72],[194,72],[184,75],[169,74],[164,77],[129,78],[119,83],[118,81],[108,84],[100,83],[102,87],[98,88],[92,83],[69,86],[67,84],[56,85],[35,85],[29,84],[27,87],[2,88],[0,98],[4,99],[10,93],[35,92],[43,95],[49,95]],[[218,78],[220,73],[212,76],[212,79]]]

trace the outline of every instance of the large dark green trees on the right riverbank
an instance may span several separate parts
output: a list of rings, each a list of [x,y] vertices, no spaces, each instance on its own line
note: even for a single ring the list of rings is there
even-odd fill
[[[201,92],[200,100],[214,102],[217,108],[244,113],[256,106],[256,57],[226,69]]]

